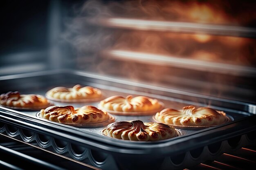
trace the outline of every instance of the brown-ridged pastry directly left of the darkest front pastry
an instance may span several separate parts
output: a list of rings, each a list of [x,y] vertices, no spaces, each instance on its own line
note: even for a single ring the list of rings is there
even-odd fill
[[[110,119],[110,115],[94,106],[50,106],[40,110],[40,117],[61,123],[97,123]]]

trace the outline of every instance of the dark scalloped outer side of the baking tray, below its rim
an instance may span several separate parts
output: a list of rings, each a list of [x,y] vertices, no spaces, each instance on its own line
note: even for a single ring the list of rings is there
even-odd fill
[[[24,141],[25,143],[30,145],[37,144],[40,148],[43,148],[44,150],[53,151],[60,156],[62,155],[65,157],[69,157],[71,159],[80,161],[81,163],[85,163],[96,168],[100,168],[103,170],[107,170],[109,168],[113,170],[120,169],[119,163],[117,163],[116,158],[113,157],[111,154],[100,152],[94,155],[94,150],[83,146],[83,144],[80,144],[80,146],[77,147],[73,144],[76,141],[72,139],[62,140],[52,135],[43,135],[33,130],[28,130],[26,128],[20,128],[18,126],[3,123],[2,120],[0,133],[18,141]],[[167,155],[162,158],[161,162],[157,163],[157,166],[159,166],[159,169],[161,170],[180,170],[186,167],[198,165],[199,163],[205,161],[213,161],[223,153],[234,152],[235,150],[248,145],[256,145],[255,136],[256,131],[254,130],[252,132],[238,135],[227,140],[219,141],[213,144],[209,144],[207,146],[201,146],[200,148],[191,149],[187,152]],[[122,164],[124,165],[124,167],[122,167],[121,169],[126,169],[127,167],[129,167],[130,163],[126,164],[123,162]],[[128,169],[132,167],[133,169],[142,168],[138,166],[139,163],[135,164],[131,163]],[[156,167],[152,168],[155,169]]]

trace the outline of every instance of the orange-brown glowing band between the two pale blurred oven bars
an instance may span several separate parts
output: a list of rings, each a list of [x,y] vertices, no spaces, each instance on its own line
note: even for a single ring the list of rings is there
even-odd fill
[[[117,31],[111,49],[237,65],[256,63],[256,40],[204,34]]]

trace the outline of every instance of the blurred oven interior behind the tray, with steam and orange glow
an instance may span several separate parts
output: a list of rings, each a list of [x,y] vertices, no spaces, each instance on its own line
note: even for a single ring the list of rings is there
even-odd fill
[[[3,0],[0,75],[71,69],[256,104],[256,2]]]

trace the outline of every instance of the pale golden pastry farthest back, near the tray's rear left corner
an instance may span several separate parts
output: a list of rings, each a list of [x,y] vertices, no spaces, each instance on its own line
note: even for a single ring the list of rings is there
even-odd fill
[[[91,86],[76,84],[73,88],[55,87],[47,91],[47,97],[64,100],[94,99],[101,97],[101,91]]]

